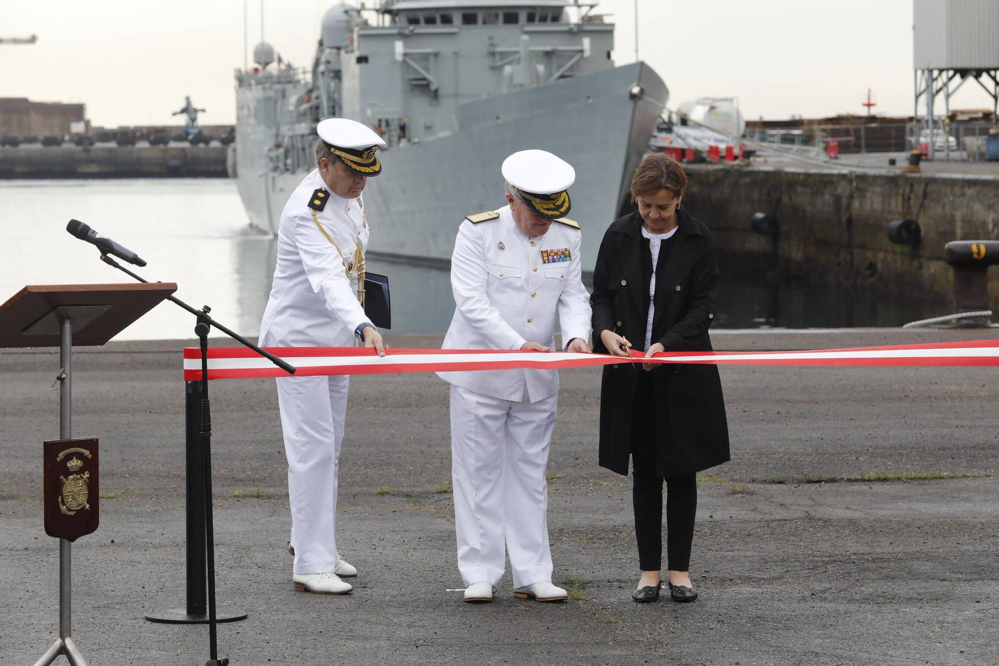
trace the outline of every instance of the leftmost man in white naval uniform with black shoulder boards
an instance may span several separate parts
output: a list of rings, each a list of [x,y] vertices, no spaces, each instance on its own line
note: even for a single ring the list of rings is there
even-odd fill
[[[278,265],[261,323],[268,347],[351,347],[358,340],[385,355],[365,314],[368,219],[361,191],[382,164],[385,142],[353,120],[319,123],[316,169],[281,214]],[[344,441],[348,377],[280,377],[278,403],[288,455],[296,590],[345,594],[341,576],[357,569],[337,551],[337,471]]]

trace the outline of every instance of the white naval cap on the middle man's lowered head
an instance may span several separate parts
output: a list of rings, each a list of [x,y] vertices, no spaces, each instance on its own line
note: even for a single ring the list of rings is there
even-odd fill
[[[575,169],[546,150],[521,150],[502,163],[502,177],[528,208],[541,217],[564,217],[571,203],[565,190],[575,182]]]

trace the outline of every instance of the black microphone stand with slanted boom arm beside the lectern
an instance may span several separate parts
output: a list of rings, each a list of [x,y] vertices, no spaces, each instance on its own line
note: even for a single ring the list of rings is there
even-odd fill
[[[109,257],[106,253],[108,252],[107,247],[98,246],[101,250],[101,261],[108,264],[109,266],[114,266],[123,273],[135,278],[139,282],[149,283],[149,280],[143,279],[141,276],[136,275],[129,269],[125,268],[117,261]],[[194,333],[198,336],[198,342],[201,346],[201,443],[202,443],[202,454],[204,459],[204,470],[205,470],[205,547],[207,549],[208,558],[208,627],[209,627],[209,645],[210,645],[210,658],[205,663],[205,666],[228,666],[229,659],[219,659],[218,651],[218,640],[216,632],[216,624],[218,622],[216,617],[215,609],[215,538],[214,538],[214,524],[212,520],[212,405],[208,399],[208,333],[212,326],[233,338],[240,344],[249,347],[254,350],[264,358],[268,359],[279,368],[284,370],[289,374],[295,374],[296,368],[289,364],[288,362],[278,358],[274,354],[261,349],[254,343],[250,342],[244,338],[239,333],[232,331],[219,322],[215,321],[209,316],[209,312],[212,311],[207,305],[200,310],[196,310],[184,301],[173,296],[167,296],[167,300],[176,303],[180,307],[184,308],[195,317],[197,317],[197,324],[194,327]],[[244,616],[245,617],[245,616]]]

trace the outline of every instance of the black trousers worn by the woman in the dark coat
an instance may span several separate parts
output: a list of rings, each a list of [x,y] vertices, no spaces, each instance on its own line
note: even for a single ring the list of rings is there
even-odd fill
[[[655,473],[658,437],[649,405],[664,396],[654,395],[653,372],[638,370],[638,386],[631,425],[631,465],[634,483],[634,533],[642,571],[662,569],[662,482],[666,482],[667,569],[688,571],[693,523],[697,514],[697,478],[694,474],[661,477]]]

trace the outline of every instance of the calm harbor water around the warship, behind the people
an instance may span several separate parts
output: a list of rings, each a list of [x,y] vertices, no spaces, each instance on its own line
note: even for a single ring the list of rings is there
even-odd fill
[[[498,203],[501,203],[498,197]],[[255,336],[267,304],[277,241],[252,232],[228,179],[8,180],[0,182],[0,302],[27,284],[129,282],[99,259],[97,248],[70,236],[78,219],[136,252],[150,281],[176,282],[177,296],[212,306],[212,315]],[[455,231],[459,220],[455,220]],[[586,221],[583,233],[590,231]],[[710,226],[711,220],[705,220]],[[371,220],[372,250],[379,221]],[[855,293],[833,286],[774,282],[763,275],[733,275],[721,257],[722,291],[714,329],[901,326],[949,313],[945,302]],[[389,276],[392,332],[442,333],[455,302],[446,269],[388,263],[369,270]],[[590,288],[588,280],[586,288]],[[194,318],[162,303],[118,339],[193,337]],[[391,342],[391,336],[390,336]]]

